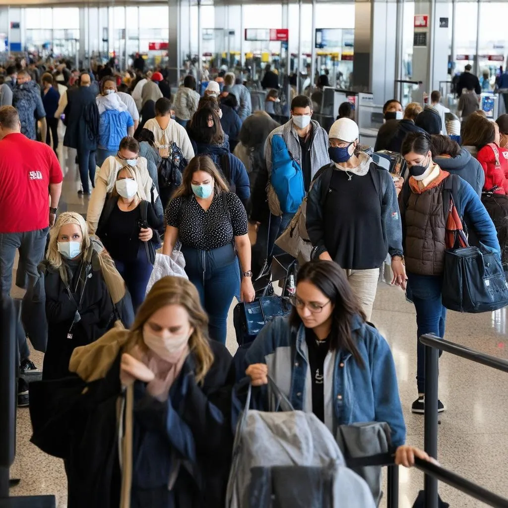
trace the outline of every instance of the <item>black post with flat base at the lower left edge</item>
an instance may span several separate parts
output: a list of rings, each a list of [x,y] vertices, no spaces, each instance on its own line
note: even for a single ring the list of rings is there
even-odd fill
[[[16,454],[18,312],[0,297],[0,508],[55,508],[55,496],[9,497],[9,469]]]

